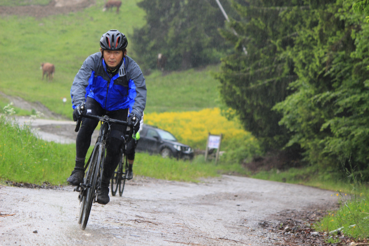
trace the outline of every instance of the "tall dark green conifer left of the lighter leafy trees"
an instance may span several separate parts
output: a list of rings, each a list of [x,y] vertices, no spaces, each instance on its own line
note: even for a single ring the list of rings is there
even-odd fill
[[[236,50],[222,60],[217,74],[222,99],[236,110],[245,129],[262,140],[265,150],[282,149],[288,131],[278,123],[282,115],[271,109],[286,98],[289,84],[297,79],[288,53],[308,6],[300,1],[253,0],[234,3],[233,8],[240,20],[231,20],[230,27],[238,35],[221,30]]]

